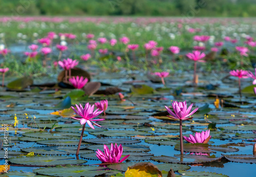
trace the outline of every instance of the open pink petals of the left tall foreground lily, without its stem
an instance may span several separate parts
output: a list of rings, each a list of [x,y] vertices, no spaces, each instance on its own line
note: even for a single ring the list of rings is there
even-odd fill
[[[71,106],[71,108],[74,110],[74,112],[79,115],[80,117],[71,117],[72,119],[75,119],[75,120],[79,120],[80,121],[80,124],[83,125],[83,124],[86,124],[88,123],[88,125],[92,128],[92,129],[95,129],[93,124],[98,126],[98,127],[101,127],[99,124],[95,123],[94,121],[102,121],[102,120],[105,120],[105,119],[94,119],[95,117],[97,117],[98,115],[100,115],[103,110],[101,111],[98,111],[99,109],[96,109],[94,111],[94,105],[90,105],[89,103],[86,103],[86,105],[84,106],[84,108],[82,107],[82,105],[80,104],[80,106],[78,106],[76,104],[76,108],[77,110]]]

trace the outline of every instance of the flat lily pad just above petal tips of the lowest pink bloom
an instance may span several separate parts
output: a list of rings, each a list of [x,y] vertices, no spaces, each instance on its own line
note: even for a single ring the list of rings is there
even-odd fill
[[[98,139],[82,140],[82,142],[94,143],[94,144],[111,144],[111,143],[117,143],[117,142],[118,144],[133,144],[133,143],[140,143],[141,141],[132,140],[128,138],[98,138]]]

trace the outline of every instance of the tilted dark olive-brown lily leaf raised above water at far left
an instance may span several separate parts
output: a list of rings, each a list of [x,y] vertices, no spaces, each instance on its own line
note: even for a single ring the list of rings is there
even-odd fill
[[[11,90],[23,90],[33,84],[33,79],[30,77],[18,78],[7,84],[7,88]]]

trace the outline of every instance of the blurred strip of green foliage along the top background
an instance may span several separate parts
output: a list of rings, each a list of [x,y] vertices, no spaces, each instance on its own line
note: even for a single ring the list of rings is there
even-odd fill
[[[256,16],[255,0],[0,0],[1,15]]]

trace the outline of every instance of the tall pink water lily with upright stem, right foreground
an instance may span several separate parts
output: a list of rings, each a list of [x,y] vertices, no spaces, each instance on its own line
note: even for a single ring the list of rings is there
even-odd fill
[[[191,104],[187,108],[186,101],[184,101],[184,102],[174,101],[172,105],[173,105],[174,112],[172,112],[172,110],[170,110],[169,107],[165,106],[167,112],[170,114],[170,116],[167,116],[167,117],[176,119],[176,120],[180,120],[180,149],[181,149],[180,152],[181,152],[181,154],[183,154],[182,120],[192,119],[193,117],[190,117],[190,116],[193,115],[194,113],[196,113],[198,108],[196,108],[191,113],[189,113],[193,104]]]

